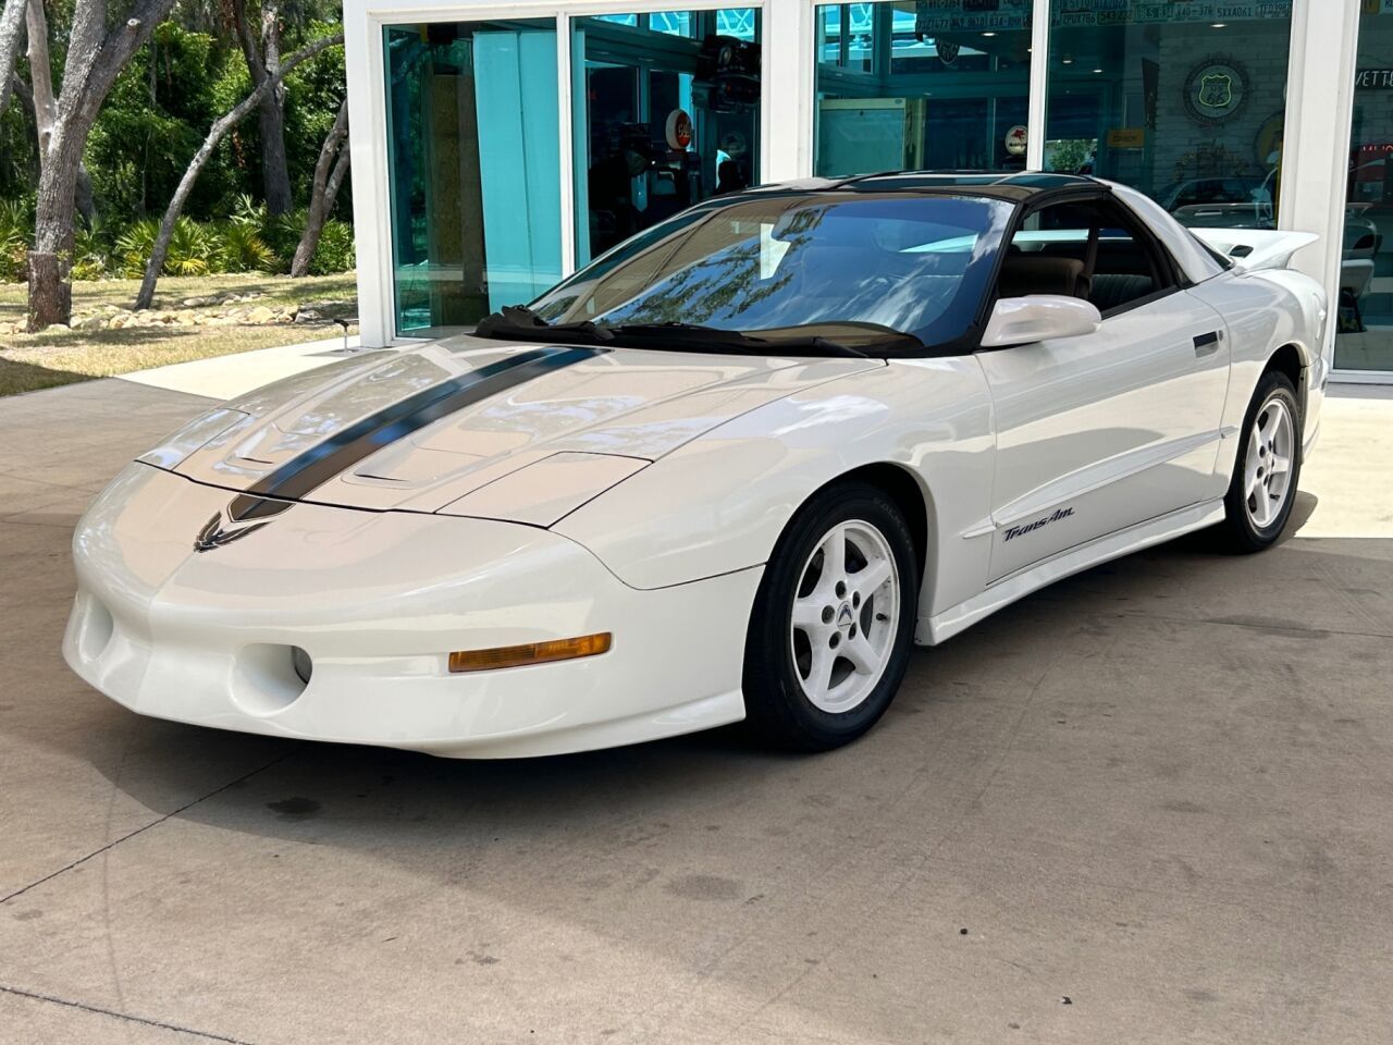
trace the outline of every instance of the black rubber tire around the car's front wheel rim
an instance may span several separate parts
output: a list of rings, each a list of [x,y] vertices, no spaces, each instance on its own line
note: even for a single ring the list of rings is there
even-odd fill
[[[804,567],[822,539],[840,522],[868,524],[889,546],[898,584],[896,628],[879,680],[869,694],[844,712],[814,705],[802,686],[791,634],[794,599],[805,581]],[[848,566],[851,560],[848,560]],[[819,490],[788,522],[765,568],[745,637],[744,695],[748,726],[765,744],[794,751],[827,751],[850,744],[890,706],[914,645],[918,609],[918,557],[903,513],[882,489],[861,481],[837,482]],[[848,596],[850,598],[850,596]],[[846,603],[850,606],[850,602]],[[869,614],[871,599],[855,613]],[[841,610],[836,610],[840,614]],[[857,616],[857,621],[862,617]],[[885,616],[876,621],[889,623]],[[857,624],[848,626],[855,635]],[[868,626],[862,626],[862,630]],[[807,637],[805,637],[807,638]],[[850,662],[843,662],[850,667]],[[846,669],[843,669],[846,670]]]

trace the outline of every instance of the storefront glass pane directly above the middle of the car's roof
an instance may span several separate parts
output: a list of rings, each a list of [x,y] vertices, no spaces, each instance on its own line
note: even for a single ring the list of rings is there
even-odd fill
[[[819,6],[814,170],[1024,170],[1031,7]]]

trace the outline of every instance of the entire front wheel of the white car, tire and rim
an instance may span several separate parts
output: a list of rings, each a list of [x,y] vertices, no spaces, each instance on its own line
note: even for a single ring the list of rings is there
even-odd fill
[[[800,510],[745,640],[745,708],[763,740],[825,751],[875,725],[908,666],[917,575],[910,528],[880,489],[837,483]]]

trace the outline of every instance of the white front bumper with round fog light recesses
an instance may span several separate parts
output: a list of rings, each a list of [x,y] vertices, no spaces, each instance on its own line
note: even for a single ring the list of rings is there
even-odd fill
[[[231,495],[128,467],[74,535],[63,652],[142,715],[451,757],[582,751],[744,718],[759,568],[656,591],[534,527],[295,504],[205,553]],[[612,631],[600,656],[450,674],[454,649]],[[293,648],[312,659],[301,681]]]

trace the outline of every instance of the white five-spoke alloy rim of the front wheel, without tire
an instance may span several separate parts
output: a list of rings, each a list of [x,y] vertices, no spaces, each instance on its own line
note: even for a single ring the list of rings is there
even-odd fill
[[[833,715],[861,705],[894,651],[900,571],[890,542],[872,524],[847,520],[808,556],[788,626],[804,695]]]

